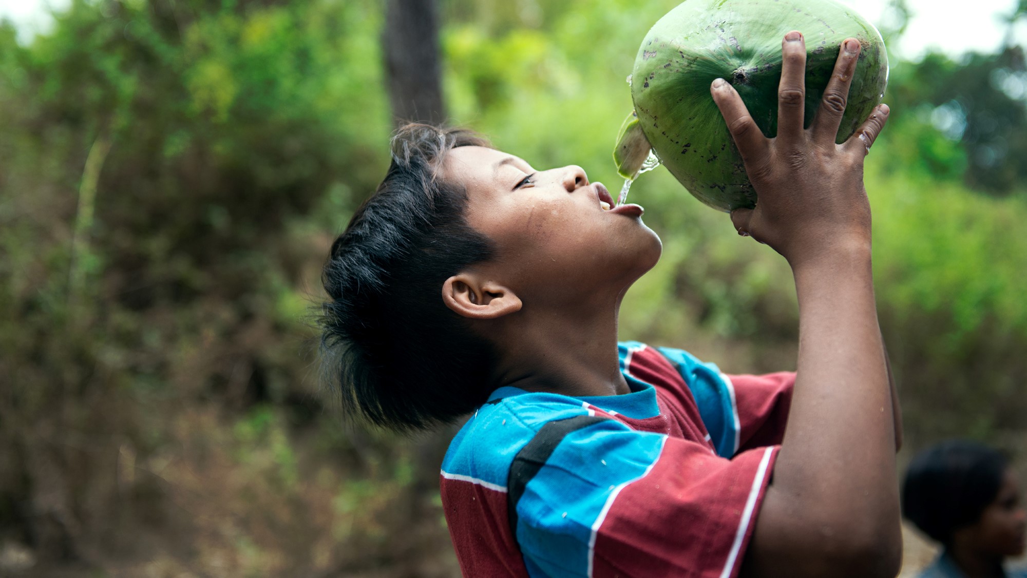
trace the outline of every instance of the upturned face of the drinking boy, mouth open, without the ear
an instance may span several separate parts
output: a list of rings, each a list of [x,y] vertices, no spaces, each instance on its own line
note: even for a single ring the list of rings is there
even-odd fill
[[[497,246],[481,267],[521,299],[589,301],[621,295],[659,259],[659,237],[642,207],[614,203],[579,166],[536,170],[483,147],[450,151],[442,178],[467,191],[467,223]]]

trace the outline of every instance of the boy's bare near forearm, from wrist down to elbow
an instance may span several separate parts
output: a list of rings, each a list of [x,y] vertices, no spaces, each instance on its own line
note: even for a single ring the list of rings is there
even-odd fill
[[[893,549],[901,544],[893,403],[869,244],[824,252],[793,269],[798,375],[764,507],[792,512],[796,532],[816,542],[809,547],[837,551],[838,560],[851,547]]]

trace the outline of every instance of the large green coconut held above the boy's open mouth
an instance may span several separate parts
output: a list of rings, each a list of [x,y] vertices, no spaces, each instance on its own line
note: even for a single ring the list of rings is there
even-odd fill
[[[756,205],[756,191],[710,95],[730,82],[763,133],[777,132],[781,43],[789,31],[806,40],[805,125],[812,122],[841,43],[857,38],[860,60],[838,130],[843,143],[880,104],[887,52],[876,28],[835,0],[686,0],[649,30],[632,72],[634,117],[621,126],[614,160],[638,174],[649,148],[692,195],[732,210]]]

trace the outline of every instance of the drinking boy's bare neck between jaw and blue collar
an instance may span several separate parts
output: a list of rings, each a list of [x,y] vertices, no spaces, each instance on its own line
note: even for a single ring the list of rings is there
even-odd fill
[[[617,356],[620,299],[612,305],[584,312],[526,308],[511,316],[497,342],[496,387],[575,397],[627,393]]]

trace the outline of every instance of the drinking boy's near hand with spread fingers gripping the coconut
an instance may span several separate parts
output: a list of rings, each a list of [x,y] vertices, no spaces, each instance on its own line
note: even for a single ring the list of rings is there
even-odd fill
[[[870,246],[870,203],[863,161],[884,127],[888,107],[878,106],[845,143],[835,144],[860,55],[860,42],[842,43],[815,119],[804,129],[806,46],[790,32],[782,43],[777,136],[765,138],[734,88],[723,79],[711,92],[756,188],[755,208],[731,213],[738,234],[782,254],[792,267],[826,253]]]

